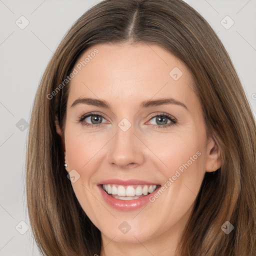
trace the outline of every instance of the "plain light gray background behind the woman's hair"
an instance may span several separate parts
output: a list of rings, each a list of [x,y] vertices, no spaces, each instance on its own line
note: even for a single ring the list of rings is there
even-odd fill
[[[29,123],[35,91],[52,53],[72,23],[96,2],[99,0],[0,0],[0,256],[39,255],[25,203],[28,128],[18,128],[16,123],[22,118]],[[217,32],[255,115],[256,0],[186,2]],[[21,15],[29,21],[24,29],[15,23]],[[222,25],[231,24],[230,19],[223,20],[226,15],[234,21],[229,29]],[[28,225],[24,234],[20,233],[26,230],[22,220]]]

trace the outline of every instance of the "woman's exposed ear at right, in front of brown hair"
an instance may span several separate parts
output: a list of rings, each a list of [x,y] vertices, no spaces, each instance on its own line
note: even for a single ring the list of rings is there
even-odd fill
[[[209,137],[208,143],[206,146],[206,160],[205,160],[205,171],[213,172],[220,168],[221,159],[220,159],[220,150],[219,146],[216,143],[215,137]]]

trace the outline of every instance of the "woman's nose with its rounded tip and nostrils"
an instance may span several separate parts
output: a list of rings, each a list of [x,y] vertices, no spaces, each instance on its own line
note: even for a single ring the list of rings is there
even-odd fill
[[[109,144],[108,162],[122,169],[134,168],[144,161],[143,143],[135,135],[133,125],[124,131],[119,126]]]

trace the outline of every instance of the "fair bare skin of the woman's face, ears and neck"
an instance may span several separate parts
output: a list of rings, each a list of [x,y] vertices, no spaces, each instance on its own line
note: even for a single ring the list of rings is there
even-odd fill
[[[219,149],[214,139],[206,136],[192,77],[179,59],[154,44],[97,44],[77,63],[95,48],[99,52],[71,79],[64,134],[56,126],[66,170],[75,169],[80,175],[72,183],[73,190],[101,231],[100,256],[174,255],[205,171],[220,167]],[[176,81],[169,75],[174,67],[183,73]],[[79,97],[104,99],[111,108],[83,103],[71,107]],[[181,101],[187,109],[177,104],[139,107],[143,100],[167,97]],[[96,128],[78,121],[91,111],[103,115]],[[156,123],[157,112],[170,114],[177,122],[156,128],[166,123]],[[123,118],[131,124],[125,132],[118,127]],[[90,117],[86,121],[92,123]],[[197,151],[201,155],[144,208],[114,209],[96,186],[109,178],[141,179],[163,186]],[[118,229],[123,221],[131,227],[125,234]]]

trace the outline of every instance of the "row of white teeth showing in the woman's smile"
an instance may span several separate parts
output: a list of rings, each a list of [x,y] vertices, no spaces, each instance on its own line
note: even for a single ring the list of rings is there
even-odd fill
[[[152,193],[156,189],[156,185],[129,185],[126,187],[122,185],[114,185],[114,184],[103,184],[102,188],[108,193],[116,196],[134,196],[138,198],[140,195],[147,195],[148,193]],[[114,196],[116,198],[116,196]],[[134,198],[135,199],[135,198]],[[128,200],[128,198],[126,198]]]

